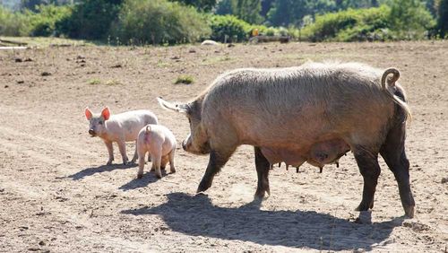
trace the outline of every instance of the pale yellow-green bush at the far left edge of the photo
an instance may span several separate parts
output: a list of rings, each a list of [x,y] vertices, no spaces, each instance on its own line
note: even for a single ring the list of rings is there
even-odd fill
[[[0,5],[0,35],[27,36],[30,33],[29,17],[23,13],[13,13]]]

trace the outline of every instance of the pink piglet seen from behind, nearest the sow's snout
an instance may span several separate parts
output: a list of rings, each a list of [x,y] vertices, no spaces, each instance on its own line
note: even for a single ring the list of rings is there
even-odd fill
[[[151,171],[155,170],[160,179],[160,168],[165,169],[169,161],[171,173],[176,172],[174,167],[174,153],[176,152],[176,137],[166,126],[148,125],[142,128],[137,138],[137,152],[139,155],[139,170],[137,178],[142,179],[144,156],[150,153],[152,160]]]

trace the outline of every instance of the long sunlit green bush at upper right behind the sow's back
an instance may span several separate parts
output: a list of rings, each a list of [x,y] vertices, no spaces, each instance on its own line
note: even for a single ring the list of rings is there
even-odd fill
[[[391,7],[318,15],[304,28],[303,35],[313,41],[424,39],[435,22],[423,4],[417,0],[393,2]]]

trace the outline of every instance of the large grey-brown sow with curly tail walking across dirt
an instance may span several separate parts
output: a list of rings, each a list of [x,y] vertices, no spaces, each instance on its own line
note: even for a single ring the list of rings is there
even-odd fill
[[[358,63],[237,69],[220,75],[191,102],[159,98],[159,103],[188,118],[185,151],[210,153],[198,192],[211,187],[241,144],[254,146],[258,197],[270,194],[270,164],[309,161],[322,167],[351,150],[364,178],[357,210],[365,211],[374,206],[380,153],[398,182],[405,214],[412,217],[415,203],[404,148],[410,111],[399,77],[395,68],[382,71]]]

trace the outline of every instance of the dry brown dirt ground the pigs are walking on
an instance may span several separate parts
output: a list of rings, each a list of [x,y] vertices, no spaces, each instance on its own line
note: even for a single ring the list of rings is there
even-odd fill
[[[407,151],[417,211],[404,219],[381,160],[371,221],[355,222],[362,177],[351,153],[323,173],[271,170],[271,196],[253,202],[254,153],[242,146],[201,195],[208,162],[177,150],[177,173],[106,166],[83,110],[151,109],[177,136],[186,118],[156,97],[186,101],[237,67],[339,59],[396,66],[413,121]],[[448,245],[448,43],[290,43],[172,48],[61,47],[0,51],[0,251],[2,252],[446,252]],[[174,84],[179,75],[194,83]],[[134,144],[128,144],[132,156]],[[366,213],[366,221],[369,219]]]

